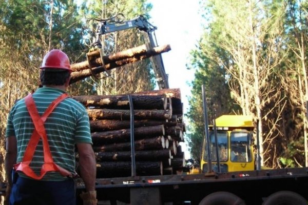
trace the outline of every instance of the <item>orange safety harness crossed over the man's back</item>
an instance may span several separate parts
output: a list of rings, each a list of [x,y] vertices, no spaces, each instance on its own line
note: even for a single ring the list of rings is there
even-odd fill
[[[56,165],[53,162],[51,152],[49,149],[49,144],[47,140],[47,134],[45,130],[44,123],[47,119],[47,117],[50,115],[50,113],[54,110],[54,108],[61,103],[62,100],[67,98],[68,95],[66,93],[60,95],[58,98],[56,98],[52,103],[49,105],[49,107],[46,109],[45,113],[40,116],[37,112],[37,108],[35,106],[35,103],[32,98],[32,94],[29,94],[25,97],[25,103],[28,109],[28,112],[32,118],[33,124],[34,124],[34,131],[32,133],[32,136],[29,140],[29,144],[26,148],[23,160],[19,163],[16,163],[14,165],[15,171],[22,171],[27,176],[33,178],[33,179],[42,179],[43,176],[47,172],[56,171],[60,172],[62,176],[65,177],[73,177],[74,175],[65,170],[64,168],[61,168],[60,166]],[[44,164],[41,169],[41,175],[37,176],[33,170],[30,168],[30,162],[32,161],[36,146],[38,144],[38,140],[42,137],[43,141],[43,151],[44,151]]]

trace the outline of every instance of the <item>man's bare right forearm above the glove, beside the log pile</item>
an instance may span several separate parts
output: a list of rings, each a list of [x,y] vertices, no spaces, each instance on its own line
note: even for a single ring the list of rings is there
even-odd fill
[[[77,144],[79,154],[80,175],[86,187],[86,191],[95,190],[96,161],[92,145],[88,143]]]

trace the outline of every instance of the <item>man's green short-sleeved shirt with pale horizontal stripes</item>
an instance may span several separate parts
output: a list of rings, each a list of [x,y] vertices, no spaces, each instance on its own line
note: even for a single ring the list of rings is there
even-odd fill
[[[43,87],[32,94],[38,113],[42,116],[50,103],[65,93],[62,90]],[[64,99],[45,121],[49,148],[53,161],[60,167],[74,172],[75,170],[75,144],[92,144],[89,117],[86,108],[72,98]],[[11,109],[6,129],[6,137],[16,136],[17,163],[21,162],[33,133],[34,125],[25,105],[21,99]],[[38,142],[30,163],[33,171],[39,175],[44,163],[42,139]],[[21,173],[22,176],[25,176]],[[59,172],[48,172],[42,180],[63,180]]]

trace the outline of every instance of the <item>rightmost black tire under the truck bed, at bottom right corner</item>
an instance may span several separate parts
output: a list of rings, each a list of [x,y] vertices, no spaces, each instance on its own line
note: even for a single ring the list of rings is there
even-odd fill
[[[279,191],[269,195],[262,205],[307,205],[307,200],[298,193]]]

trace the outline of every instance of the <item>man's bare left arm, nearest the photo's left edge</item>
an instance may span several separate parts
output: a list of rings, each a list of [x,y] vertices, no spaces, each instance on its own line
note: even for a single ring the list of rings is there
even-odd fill
[[[17,140],[15,136],[6,137],[6,156],[5,156],[5,172],[6,177],[11,185],[11,171],[16,163],[17,156]]]

